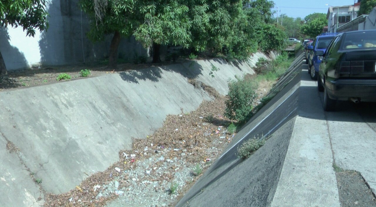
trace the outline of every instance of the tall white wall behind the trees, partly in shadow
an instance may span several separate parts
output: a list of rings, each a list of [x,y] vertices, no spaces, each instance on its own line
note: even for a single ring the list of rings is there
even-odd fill
[[[88,18],[81,12],[78,0],[51,0],[49,12],[49,29],[36,32],[35,37],[26,37],[21,28],[8,27],[0,31],[0,51],[8,70],[27,68],[34,64],[66,65],[90,62],[102,59],[109,54],[112,35],[105,41],[92,43],[86,38],[89,31]],[[2,33],[8,33],[5,38]],[[9,51],[9,47],[18,50]],[[146,50],[135,39],[122,39],[119,53],[132,59],[134,53],[147,55]]]

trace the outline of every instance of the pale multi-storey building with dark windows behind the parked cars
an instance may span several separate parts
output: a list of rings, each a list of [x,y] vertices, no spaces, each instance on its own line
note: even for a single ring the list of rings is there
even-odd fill
[[[328,20],[328,32],[338,32],[338,27],[343,26],[346,23],[356,19],[358,17],[358,11],[360,7],[360,1],[354,5],[346,6],[330,6],[326,15]]]

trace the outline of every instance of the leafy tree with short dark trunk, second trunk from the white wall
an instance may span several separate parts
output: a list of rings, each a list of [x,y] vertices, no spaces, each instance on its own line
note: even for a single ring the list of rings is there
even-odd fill
[[[133,35],[145,47],[153,46],[153,63],[161,62],[162,44],[188,47],[191,41],[189,8],[182,0],[144,0],[140,25]]]

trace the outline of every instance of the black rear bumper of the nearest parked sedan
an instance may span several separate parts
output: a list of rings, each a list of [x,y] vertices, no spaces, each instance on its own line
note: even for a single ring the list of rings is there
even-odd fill
[[[327,78],[325,87],[329,98],[335,100],[346,101],[353,97],[376,102],[376,80]]]

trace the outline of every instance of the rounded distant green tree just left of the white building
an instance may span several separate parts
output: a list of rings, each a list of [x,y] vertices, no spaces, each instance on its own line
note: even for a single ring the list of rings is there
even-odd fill
[[[304,18],[306,22],[302,26],[302,32],[304,35],[315,37],[323,31],[324,26],[327,26],[326,15],[322,13],[310,15]]]

